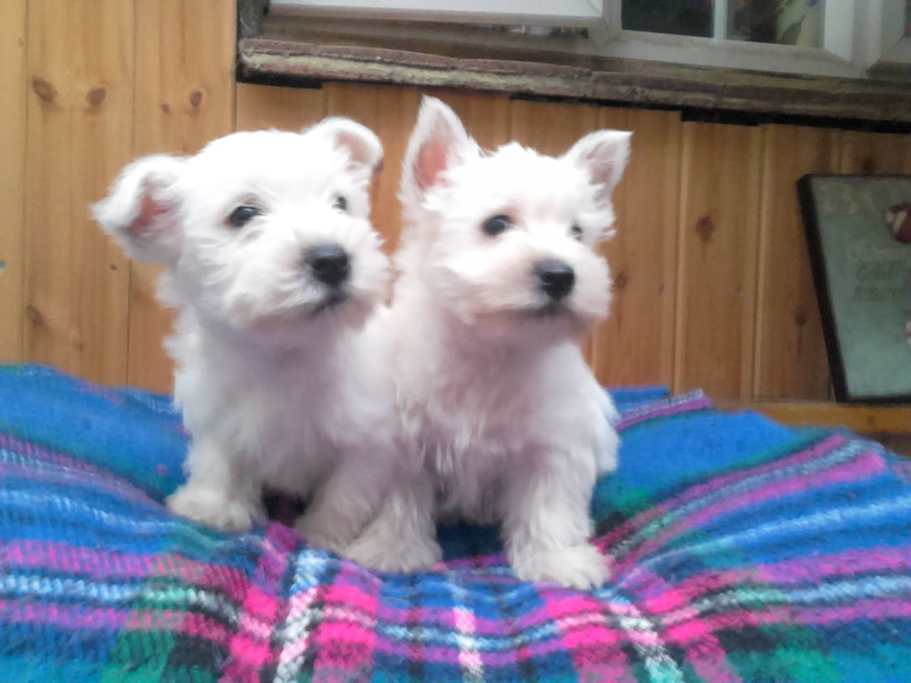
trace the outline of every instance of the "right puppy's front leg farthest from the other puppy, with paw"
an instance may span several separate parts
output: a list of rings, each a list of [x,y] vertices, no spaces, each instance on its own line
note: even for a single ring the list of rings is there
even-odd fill
[[[503,532],[509,564],[526,581],[600,586],[609,571],[608,558],[589,543],[593,458],[555,460],[559,466],[541,462],[507,481]]]

